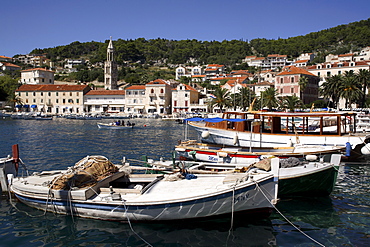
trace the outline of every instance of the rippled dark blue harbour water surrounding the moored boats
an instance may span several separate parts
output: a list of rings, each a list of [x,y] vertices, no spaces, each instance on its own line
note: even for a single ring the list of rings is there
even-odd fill
[[[109,120],[103,120],[108,122]],[[98,129],[96,120],[0,120],[0,156],[19,144],[31,171],[64,169],[87,155],[104,155],[114,163],[123,156],[170,159],[185,125],[157,119],[135,119],[132,130]],[[29,208],[7,195],[0,197],[0,246],[369,246],[370,164],[346,164],[330,197],[283,200],[285,218],[170,223],[133,223],[54,215]]]

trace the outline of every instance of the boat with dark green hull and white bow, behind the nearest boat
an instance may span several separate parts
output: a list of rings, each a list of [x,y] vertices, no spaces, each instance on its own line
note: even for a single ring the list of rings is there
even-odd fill
[[[340,154],[327,154],[318,161],[299,160],[295,157],[279,159],[278,197],[317,197],[328,196],[334,189],[338,171],[341,168]],[[179,167],[188,167],[189,172],[202,170],[217,174],[218,172],[264,169],[269,171],[271,158],[253,164],[231,164],[195,161],[178,161]],[[155,165],[160,166],[156,162]]]

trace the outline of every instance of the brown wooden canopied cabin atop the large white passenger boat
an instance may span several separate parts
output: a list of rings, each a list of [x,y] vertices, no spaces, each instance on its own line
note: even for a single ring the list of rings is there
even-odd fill
[[[356,133],[353,112],[225,112],[222,118],[227,120],[206,122],[206,127],[270,134],[340,136]]]

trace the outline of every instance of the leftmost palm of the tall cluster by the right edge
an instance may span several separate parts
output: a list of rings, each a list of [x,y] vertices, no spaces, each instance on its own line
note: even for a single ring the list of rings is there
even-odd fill
[[[324,98],[329,98],[333,102],[333,107],[336,108],[340,99],[340,85],[342,84],[342,75],[334,75],[326,78],[326,81],[320,86],[320,95]]]

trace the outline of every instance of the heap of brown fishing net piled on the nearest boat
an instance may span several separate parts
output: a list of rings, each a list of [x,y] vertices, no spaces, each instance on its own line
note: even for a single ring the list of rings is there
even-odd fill
[[[62,176],[54,178],[49,187],[54,190],[91,187],[117,171],[118,168],[107,158],[87,156],[70,167]]]

